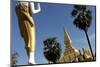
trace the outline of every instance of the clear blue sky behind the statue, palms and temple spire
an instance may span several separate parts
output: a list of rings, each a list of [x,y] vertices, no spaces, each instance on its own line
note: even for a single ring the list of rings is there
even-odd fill
[[[24,49],[24,40],[20,36],[18,20],[15,13],[14,1],[12,4],[12,22],[11,22],[11,51],[17,51],[19,54],[17,64],[27,64],[27,56]],[[47,63],[43,55],[43,41],[49,37],[57,37],[62,49],[64,50],[64,30],[65,27],[69,33],[73,47],[82,50],[88,48],[88,42],[85,33],[73,25],[73,17],[71,11],[73,5],[71,4],[54,4],[41,3],[41,12],[34,14],[33,18],[36,25],[36,56],[37,64]],[[89,6],[92,11],[92,24],[88,30],[90,42],[95,52],[95,6]]]

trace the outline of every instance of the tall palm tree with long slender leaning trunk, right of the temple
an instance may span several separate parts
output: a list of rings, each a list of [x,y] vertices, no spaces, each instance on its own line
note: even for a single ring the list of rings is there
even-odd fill
[[[88,9],[86,5],[74,5],[74,9],[71,12],[71,15],[75,18],[73,24],[85,32],[92,57],[94,57],[87,34],[88,28],[90,27],[92,20],[92,13],[90,9]]]

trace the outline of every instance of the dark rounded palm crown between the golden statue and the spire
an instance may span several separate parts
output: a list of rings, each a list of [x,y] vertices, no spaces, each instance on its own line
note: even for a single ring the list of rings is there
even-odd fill
[[[57,63],[61,56],[61,46],[55,37],[44,40],[44,56],[48,61]]]

